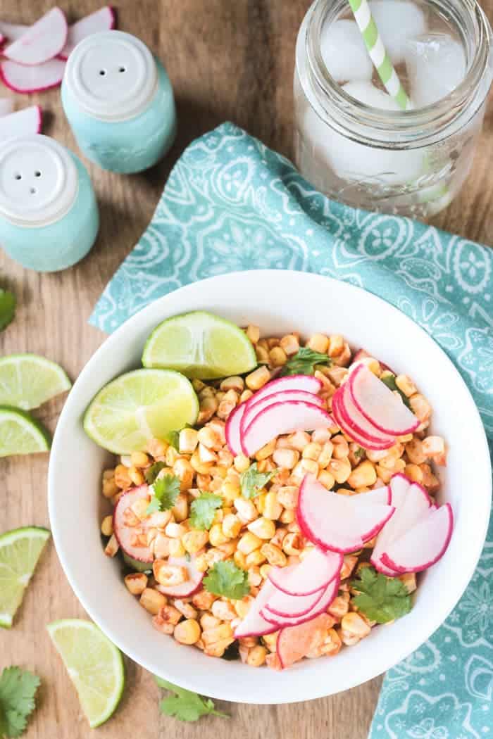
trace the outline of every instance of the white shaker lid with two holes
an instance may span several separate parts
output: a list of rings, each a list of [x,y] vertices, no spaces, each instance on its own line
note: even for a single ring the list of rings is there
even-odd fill
[[[134,118],[149,105],[157,66],[139,38],[103,31],[84,38],[69,55],[64,84],[87,115],[118,122]]]

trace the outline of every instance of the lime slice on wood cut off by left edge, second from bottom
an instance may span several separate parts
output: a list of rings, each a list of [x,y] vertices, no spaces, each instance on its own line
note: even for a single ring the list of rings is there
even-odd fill
[[[46,528],[26,526],[0,536],[0,626],[10,629],[44,545]]]

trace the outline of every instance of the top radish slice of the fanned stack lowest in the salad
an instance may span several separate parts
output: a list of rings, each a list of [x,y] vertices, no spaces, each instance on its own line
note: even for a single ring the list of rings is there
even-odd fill
[[[311,596],[320,588],[327,588],[341,571],[343,562],[341,554],[315,547],[299,565],[272,568],[268,578],[277,590],[288,596]]]

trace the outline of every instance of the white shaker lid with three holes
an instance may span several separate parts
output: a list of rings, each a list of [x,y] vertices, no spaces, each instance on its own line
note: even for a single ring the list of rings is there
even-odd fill
[[[34,228],[63,217],[75,202],[78,172],[58,141],[28,134],[0,143],[0,217]]]

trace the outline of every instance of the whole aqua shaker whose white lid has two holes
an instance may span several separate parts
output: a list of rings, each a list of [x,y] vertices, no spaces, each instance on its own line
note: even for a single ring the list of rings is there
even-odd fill
[[[174,141],[166,69],[129,33],[103,31],[81,41],[69,55],[61,101],[81,151],[103,169],[143,171]]]

